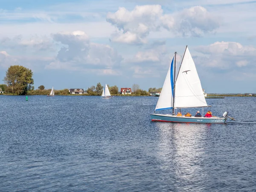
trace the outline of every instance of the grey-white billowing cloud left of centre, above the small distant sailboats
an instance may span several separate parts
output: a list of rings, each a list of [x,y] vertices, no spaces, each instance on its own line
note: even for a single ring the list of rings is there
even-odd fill
[[[47,65],[48,69],[65,70],[102,70],[102,74],[115,74],[122,56],[105,44],[90,42],[85,32],[59,32],[52,35],[54,41],[63,44],[55,61]],[[116,72],[117,73],[117,72]]]

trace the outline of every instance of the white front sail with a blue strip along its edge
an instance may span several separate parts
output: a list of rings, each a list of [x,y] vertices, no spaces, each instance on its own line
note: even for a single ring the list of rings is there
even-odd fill
[[[157,101],[157,106],[155,111],[163,110],[163,109],[171,109],[172,106],[172,89],[173,89],[173,62],[174,57],[172,58],[172,63],[170,64],[169,70],[166,75],[166,79],[163,83],[163,88],[161,90],[161,94]],[[172,79],[172,80],[171,80]]]

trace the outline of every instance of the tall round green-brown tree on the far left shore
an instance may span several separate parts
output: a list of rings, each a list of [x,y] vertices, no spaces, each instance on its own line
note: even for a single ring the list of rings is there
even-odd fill
[[[12,65],[6,71],[4,81],[7,85],[7,92],[25,95],[29,90],[33,90],[34,79],[33,72],[20,65]]]

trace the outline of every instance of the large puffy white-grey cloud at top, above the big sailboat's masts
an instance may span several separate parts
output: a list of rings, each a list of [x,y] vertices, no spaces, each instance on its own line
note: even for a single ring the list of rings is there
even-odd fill
[[[106,20],[117,29],[111,40],[127,44],[145,44],[150,32],[161,29],[177,36],[200,37],[220,26],[218,17],[201,6],[172,14],[164,14],[160,5],[136,6],[132,11],[119,7]]]

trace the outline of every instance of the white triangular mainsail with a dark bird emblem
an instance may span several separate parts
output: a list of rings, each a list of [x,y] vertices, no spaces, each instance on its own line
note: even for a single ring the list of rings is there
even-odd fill
[[[207,107],[195,63],[186,47],[175,84],[175,108]]]

